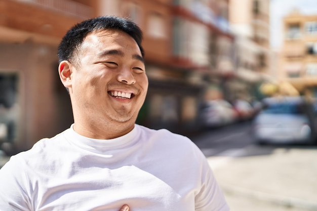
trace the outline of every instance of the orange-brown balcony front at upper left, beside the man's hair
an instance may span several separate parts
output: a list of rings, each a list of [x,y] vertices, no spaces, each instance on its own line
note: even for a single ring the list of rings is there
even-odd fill
[[[56,43],[75,23],[92,16],[85,5],[62,0],[0,0],[0,41]]]

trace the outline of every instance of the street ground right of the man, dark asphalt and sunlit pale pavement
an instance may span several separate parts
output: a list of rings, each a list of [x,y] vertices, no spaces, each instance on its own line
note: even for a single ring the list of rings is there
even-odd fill
[[[231,210],[317,210],[317,147],[256,145],[250,130],[242,122],[191,137]]]

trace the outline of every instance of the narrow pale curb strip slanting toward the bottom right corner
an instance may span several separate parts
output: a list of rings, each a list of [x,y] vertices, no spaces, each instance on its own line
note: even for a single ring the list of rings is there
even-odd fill
[[[302,208],[307,210],[317,210],[317,203],[305,201],[293,197],[285,197],[280,195],[268,194],[264,192],[254,191],[246,188],[236,187],[232,185],[219,184],[221,190],[228,194],[245,196],[268,203],[274,203],[285,207]]]

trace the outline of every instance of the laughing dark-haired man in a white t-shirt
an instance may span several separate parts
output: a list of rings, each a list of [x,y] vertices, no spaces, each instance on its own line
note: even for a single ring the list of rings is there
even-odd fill
[[[135,124],[148,88],[141,40],[112,16],[66,33],[59,75],[74,123],[0,170],[1,210],[229,210],[199,148]]]

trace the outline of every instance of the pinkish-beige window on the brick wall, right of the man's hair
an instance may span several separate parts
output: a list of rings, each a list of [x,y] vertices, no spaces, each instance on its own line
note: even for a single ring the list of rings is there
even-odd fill
[[[147,33],[155,38],[167,37],[166,24],[162,15],[158,13],[150,14],[147,22]]]

